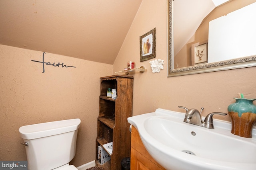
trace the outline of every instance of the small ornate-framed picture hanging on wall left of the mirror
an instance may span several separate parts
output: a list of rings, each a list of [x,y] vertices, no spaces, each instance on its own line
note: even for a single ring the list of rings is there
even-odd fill
[[[156,57],[156,28],[140,36],[140,61]]]

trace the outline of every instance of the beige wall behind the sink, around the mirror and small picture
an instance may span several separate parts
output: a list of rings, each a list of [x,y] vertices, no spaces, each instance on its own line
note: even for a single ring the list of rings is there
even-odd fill
[[[134,61],[136,67],[148,70],[134,75],[133,115],[153,112],[157,108],[184,112],[178,106],[200,109],[202,115],[214,111],[226,112],[238,93],[256,98],[256,67],[167,77],[167,25],[166,1],[143,0],[136,18],[126,36],[114,63],[114,72]],[[149,61],[140,62],[139,37],[156,27],[156,58],[164,60],[164,70],[152,73]],[[230,121],[228,115],[214,115],[216,119]]]

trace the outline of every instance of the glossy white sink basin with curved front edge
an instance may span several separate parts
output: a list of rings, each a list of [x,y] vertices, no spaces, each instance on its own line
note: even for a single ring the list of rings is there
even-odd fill
[[[149,154],[167,170],[255,170],[256,129],[252,138],[233,135],[231,123],[214,128],[183,122],[185,114],[164,109],[128,118]]]

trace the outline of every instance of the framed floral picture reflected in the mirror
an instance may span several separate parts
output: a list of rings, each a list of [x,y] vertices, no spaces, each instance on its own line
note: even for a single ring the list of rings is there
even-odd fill
[[[191,65],[207,63],[208,41],[191,45]]]

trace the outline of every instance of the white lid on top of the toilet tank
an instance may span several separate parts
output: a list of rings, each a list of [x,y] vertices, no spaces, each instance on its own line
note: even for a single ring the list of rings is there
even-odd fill
[[[80,123],[80,119],[68,119],[47,123],[38,123],[34,125],[22,126],[20,127],[19,132],[20,137],[23,139],[37,139],[41,137],[76,131],[79,128]]]

